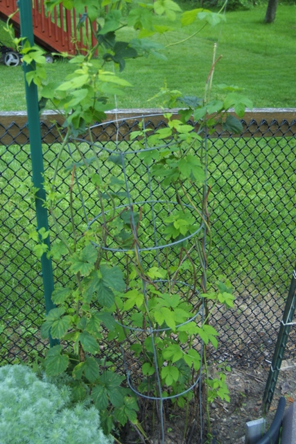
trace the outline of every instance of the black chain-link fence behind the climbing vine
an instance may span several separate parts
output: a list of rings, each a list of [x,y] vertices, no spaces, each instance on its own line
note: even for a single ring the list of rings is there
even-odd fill
[[[105,146],[133,148],[129,134],[136,130],[143,110],[109,115],[109,122],[94,128]],[[60,133],[51,113],[41,119],[44,171],[52,176]],[[166,125],[162,112],[146,112],[146,128]],[[214,246],[209,280],[220,275],[231,280],[234,309],[217,307],[213,325],[220,333],[215,359],[233,366],[256,366],[271,361],[296,252],[296,110],[247,112],[243,133],[229,135],[217,129],[209,139],[209,208]],[[119,127],[118,127],[119,126]],[[75,161],[75,153],[73,153]],[[40,338],[44,298],[39,260],[29,237],[35,225],[30,192],[31,159],[26,114],[0,115],[0,347],[1,364],[44,355],[49,344]],[[135,156],[129,171],[141,167]],[[69,189],[64,164],[59,171],[61,189]],[[78,171],[78,170],[77,170]],[[106,167],[105,174],[108,173]],[[88,194],[87,178],[78,171],[76,212],[92,220],[98,205]],[[145,184],[138,174],[134,193],[138,200]],[[143,199],[144,200],[144,199]],[[69,209],[60,207],[60,222],[67,230]],[[161,210],[159,210],[161,211]],[[161,216],[160,216],[161,217]],[[53,263],[55,282],[67,283],[67,268]],[[295,357],[294,332],[286,348]]]

